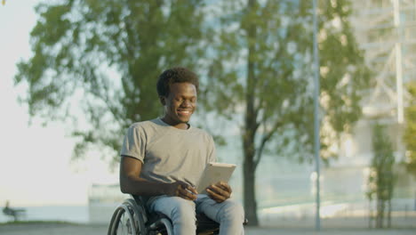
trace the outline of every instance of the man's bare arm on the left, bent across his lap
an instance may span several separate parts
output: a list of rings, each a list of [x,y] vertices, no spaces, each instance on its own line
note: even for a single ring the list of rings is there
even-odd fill
[[[120,163],[120,189],[123,193],[140,196],[178,196],[195,200],[196,190],[186,182],[149,182],[140,178],[142,163],[139,159],[123,156]]]

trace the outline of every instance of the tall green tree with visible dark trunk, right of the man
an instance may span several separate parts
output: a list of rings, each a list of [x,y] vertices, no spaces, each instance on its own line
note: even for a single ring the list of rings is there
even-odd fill
[[[257,225],[255,176],[263,153],[313,159],[312,2],[223,1],[219,9],[208,72],[214,87],[205,106],[240,120],[244,207]],[[319,2],[324,160],[360,117],[360,90],[369,83],[350,13],[348,1]]]

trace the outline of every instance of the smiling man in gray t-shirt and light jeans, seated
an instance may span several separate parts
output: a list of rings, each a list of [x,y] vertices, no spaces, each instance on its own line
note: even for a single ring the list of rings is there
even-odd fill
[[[198,78],[185,68],[165,70],[156,85],[164,117],[129,127],[121,150],[120,187],[147,199],[149,211],[171,218],[174,234],[195,234],[196,213],[220,223],[220,234],[244,234],[244,210],[231,187],[217,182],[198,194],[193,185],[215,161],[212,136],[188,124],[196,110]]]

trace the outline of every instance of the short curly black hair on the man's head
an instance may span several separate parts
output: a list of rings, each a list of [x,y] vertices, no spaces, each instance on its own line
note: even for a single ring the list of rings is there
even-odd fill
[[[171,85],[174,83],[193,84],[198,92],[199,81],[196,73],[184,67],[174,67],[164,70],[159,76],[156,84],[157,94],[167,97],[171,91]]]

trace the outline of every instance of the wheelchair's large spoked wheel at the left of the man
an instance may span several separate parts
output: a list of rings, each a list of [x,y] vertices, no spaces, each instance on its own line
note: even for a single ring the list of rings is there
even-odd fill
[[[126,199],[116,208],[108,227],[108,235],[147,235],[146,217],[133,199]]]

